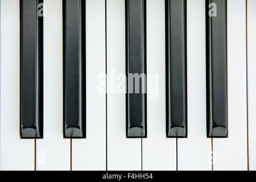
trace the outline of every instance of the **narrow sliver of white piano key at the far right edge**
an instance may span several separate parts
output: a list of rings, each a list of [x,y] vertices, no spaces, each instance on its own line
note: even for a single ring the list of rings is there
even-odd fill
[[[256,170],[256,1],[247,0],[249,167]]]

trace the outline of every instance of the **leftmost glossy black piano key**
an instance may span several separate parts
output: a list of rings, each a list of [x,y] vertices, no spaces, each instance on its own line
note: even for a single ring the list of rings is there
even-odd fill
[[[20,0],[20,135],[43,138],[43,0]]]

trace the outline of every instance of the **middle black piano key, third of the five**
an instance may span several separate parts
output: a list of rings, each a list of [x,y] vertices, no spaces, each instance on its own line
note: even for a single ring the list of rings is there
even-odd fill
[[[126,0],[126,135],[146,137],[146,1]]]

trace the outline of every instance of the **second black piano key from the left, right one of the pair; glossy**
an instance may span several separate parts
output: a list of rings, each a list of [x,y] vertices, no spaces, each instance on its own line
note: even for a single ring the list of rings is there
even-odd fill
[[[85,138],[85,1],[63,0],[64,138]]]

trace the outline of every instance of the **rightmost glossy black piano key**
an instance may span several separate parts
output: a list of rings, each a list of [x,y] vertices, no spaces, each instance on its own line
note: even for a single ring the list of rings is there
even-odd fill
[[[227,137],[226,0],[208,0],[205,9],[207,27],[207,136]]]

